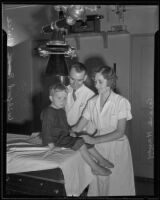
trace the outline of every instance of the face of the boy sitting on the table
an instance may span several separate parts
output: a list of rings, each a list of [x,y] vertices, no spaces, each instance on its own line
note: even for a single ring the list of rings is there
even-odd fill
[[[63,108],[66,104],[67,93],[66,91],[53,91],[49,98],[54,107]]]

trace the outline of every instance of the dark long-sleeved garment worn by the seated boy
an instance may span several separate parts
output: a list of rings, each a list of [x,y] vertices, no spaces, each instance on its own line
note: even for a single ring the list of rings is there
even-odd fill
[[[44,145],[54,143],[54,145],[58,147],[66,147],[77,150],[84,144],[84,140],[82,138],[70,136],[64,109],[55,109],[48,106],[42,111],[41,120],[42,141]]]

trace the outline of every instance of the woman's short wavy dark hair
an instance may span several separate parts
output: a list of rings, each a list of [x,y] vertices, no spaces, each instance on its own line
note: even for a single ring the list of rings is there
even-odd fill
[[[96,70],[94,73],[94,77],[97,73],[102,74],[103,78],[108,81],[108,86],[110,86],[112,89],[115,88],[117,76],[112,67],[102,66],[98,68],[98,70]]]

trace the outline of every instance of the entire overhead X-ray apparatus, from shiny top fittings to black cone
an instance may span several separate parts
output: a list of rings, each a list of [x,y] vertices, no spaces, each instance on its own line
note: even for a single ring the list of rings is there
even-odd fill
[[[50,25],[42,27],[43,33],[51,34],[51,40],[46,44],[41,45],[38,51],[41,56],[49,56],[49,61],[46,68],[46,75],[55,75],[59,77],[61,82],[64,82],[68,76],[68,68],[65,62],[65,57],[76,57],[76,49],[71,47],[65,41],[65,35],[68,34],[69,28],[78,20],[84,22],[85,27],[87,20],[86,10],[97,11],[100,6],[96,5],[56,5],[54,9],[58,12],[59,17]]]

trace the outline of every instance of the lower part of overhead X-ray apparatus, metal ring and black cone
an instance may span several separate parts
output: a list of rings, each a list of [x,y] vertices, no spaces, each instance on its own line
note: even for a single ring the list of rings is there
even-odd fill
[[[59,18],[62,16],[59,12]],[[62,17],[63,18],[63,17]],[[45,74],[56,76],[63,84],[67,84],[68,66],[66,57],[76,57],[76,49],[65,41],[65,31],[63,29],[52,29],[52,26],[42,27],[44,33],[51,33],[51,40],[39,46],[38,51],[41,56],[49,56]]]

